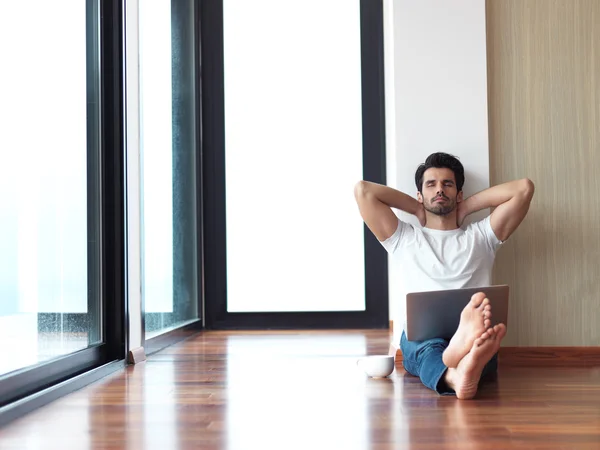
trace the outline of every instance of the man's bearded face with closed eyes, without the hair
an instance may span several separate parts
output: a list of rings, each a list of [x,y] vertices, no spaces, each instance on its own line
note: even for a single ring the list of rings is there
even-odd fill
[[[456,188],[452,170],[432,167],[423,174],[423,186],[417,197],[430,213],[446,216],[462,201],[462,191]]]

